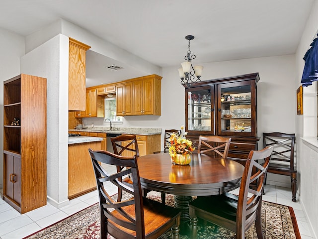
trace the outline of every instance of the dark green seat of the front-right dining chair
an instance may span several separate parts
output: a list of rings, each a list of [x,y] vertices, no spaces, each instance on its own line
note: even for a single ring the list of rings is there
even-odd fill
[[[231,193],[225,193],[215,196],[203,196],[193,200],[190,205],[196,208],[196,214],[200,218],[200,212],[198,210],[205,211],[204,213],[210,213],[222,218],[235,222],[237,217],[239,197]]]

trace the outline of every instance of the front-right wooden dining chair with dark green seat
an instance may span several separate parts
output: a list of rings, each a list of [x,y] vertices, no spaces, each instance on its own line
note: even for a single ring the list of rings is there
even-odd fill
[[[197,238],[198,218],[236,233],[244,239],[245,232],[255,222],[258,239],[263,239],[261,225],[262,193],[273,146],[250,151],[242,175],[239,196],[225,193],[198,197],[189,204],[191,239]],[[257,161],[264,160],[260,165]],[[256,182],[256,189],[251,183]]]

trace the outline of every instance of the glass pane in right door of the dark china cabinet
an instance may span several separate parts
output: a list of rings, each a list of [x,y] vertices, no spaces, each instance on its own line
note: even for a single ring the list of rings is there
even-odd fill
[[[251,132],[250,85],[221,89],[221,130]]]

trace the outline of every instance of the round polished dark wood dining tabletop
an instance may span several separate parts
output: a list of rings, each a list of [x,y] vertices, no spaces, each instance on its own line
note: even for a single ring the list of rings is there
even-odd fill
[[[244,166],[240,163],[192,153],[189,165],[171,162],[169,153],[138,158],[143,188],[183,196],[217,195],[239,187]]]

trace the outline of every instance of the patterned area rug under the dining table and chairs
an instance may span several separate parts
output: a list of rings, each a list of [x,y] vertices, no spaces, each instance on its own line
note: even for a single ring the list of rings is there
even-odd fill
[[[150,199],[161,201],[160,194],[150,192]],[[166,204],[174,206],[173,195],[166,195]],[[291,207],[262,202],[262,227],[264,239],[301,239],[296,217]],[[199,239],[232,239],[234,233],[209,223],[198,224]],[[167,232],[159,239],[169,239]],[[246,239],[257,239],[252,226],[245,233]],[[24,239],[99,239],[99,206],[94,204],[60,222],[57,222]],[[107,239],[114,239],[108,235]],[[180,239],[190,239],[180,235]]]

